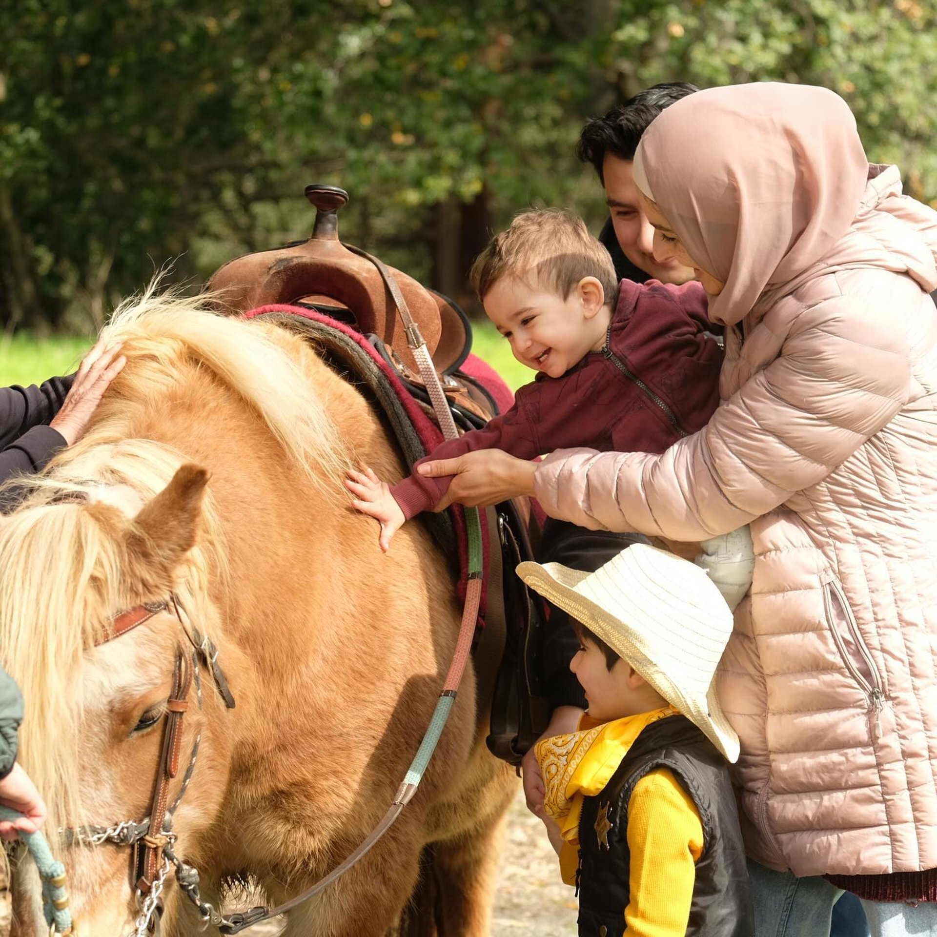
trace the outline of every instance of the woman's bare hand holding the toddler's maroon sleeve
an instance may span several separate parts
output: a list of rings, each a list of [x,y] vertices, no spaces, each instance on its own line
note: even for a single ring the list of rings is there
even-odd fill
[[[518,459],[500,449],[480,449],[454,459],[424,462],[417,468],[421,475],[439,478],[454,475],[453,483],[435,511],[453,502],[469,508],[500,504],[520,495],[533,496],[535,462]]]

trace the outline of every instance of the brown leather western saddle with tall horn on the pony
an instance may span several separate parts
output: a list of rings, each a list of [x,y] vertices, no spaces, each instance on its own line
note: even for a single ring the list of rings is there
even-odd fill
[[[471,428],[496,415],[491,397],[459,371],[471,349],[465,313],[447,297],[339,241],[337,213],[349,200],[346,191],[306,186],[305,197],[316,208],[312,236],[226,263],[207,285],[221,293],[219,307],[236,315],[264,305],[311,306],[363,335],[376,336],[376,348],[409,393],[425,404],[424,382],[409,349],[403,318],[409,310],[456,423]],[[526,498],[489,509],[492,568],[485,629],[475,651],[476,670],[480,698],[491,701],[488,746],[514,765],[549,718],[540,664],[543,605],[513,572],[522,559],[532,558],[530,534],[536,538],[535,528]]]

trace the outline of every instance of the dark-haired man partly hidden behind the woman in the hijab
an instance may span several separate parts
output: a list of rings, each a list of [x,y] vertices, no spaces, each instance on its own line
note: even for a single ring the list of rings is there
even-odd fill
[[[664,108],[698,90],[695,84],[687,82],[655,84],[619,104],[604,117],[593,117],[579,135],[576,155],[595,167],[605,188],[610,217],[599,240],[612,255],[619,279],[635,283],[657,279],[679,285],[693,278],[690,267],[683,267],[676,261],[658,263],[654,260],[654,229],[638,201],[632,160],[650,122]]]

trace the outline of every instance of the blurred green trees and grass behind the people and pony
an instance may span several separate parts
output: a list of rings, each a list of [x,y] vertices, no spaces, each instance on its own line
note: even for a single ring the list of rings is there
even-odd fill
[[[5,383],[67,366],[168,260],[197,289],[307,237],[311,182],[350,191],[344,240],[471,307],[514,212],[599,230],[578,132],[655,82],[823,84],[937,200],[934,0],[0,0],[0,35]]]

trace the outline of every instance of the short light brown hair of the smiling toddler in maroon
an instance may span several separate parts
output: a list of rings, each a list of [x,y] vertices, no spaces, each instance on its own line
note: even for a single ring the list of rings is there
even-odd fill
[[[584,276],[594,276],[615,305],[618,279],[605,248],[582,218],[558,208],[540,208],[515,216],[496,234],[472,264],[471,284],[484,301],[503,276],[532,277],[566,299]]]

